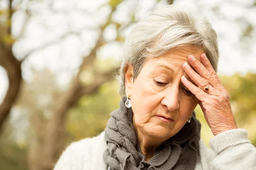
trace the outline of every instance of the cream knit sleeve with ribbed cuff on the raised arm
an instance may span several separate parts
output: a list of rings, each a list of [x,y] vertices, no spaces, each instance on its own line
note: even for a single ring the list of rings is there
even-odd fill
[[[215,152],[212,170],[256,170],[256,148],[247,130],[233,129],[213,137],[209,146]]]

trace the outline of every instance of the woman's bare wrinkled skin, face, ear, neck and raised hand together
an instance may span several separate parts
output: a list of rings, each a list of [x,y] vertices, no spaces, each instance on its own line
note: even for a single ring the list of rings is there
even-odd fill
[[[202,89],[208,82],[209,91],[205,92]],[[125,92],[131,99],[133,125],[147,160],[154,155],[157,146],[187,123],[198,104],[214,135],[237,128],[227,91],[204,51],[194,46],[175,49],[160,57],[148,57],[134,81],[133,66],[128,64]],[[159,119],[159,115],[170,118],[169,122]]]

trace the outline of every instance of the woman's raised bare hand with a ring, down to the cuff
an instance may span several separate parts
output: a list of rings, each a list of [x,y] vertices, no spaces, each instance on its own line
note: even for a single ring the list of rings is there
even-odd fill
[[[183,70],[198,87],[184,76],[181,81],[198,98],[204,117],[216,136],[221,132],[236,129],[236,121],[227,90],[221,85],[206,55],[202,54],[200,57],[201,62],[192,55],[188,57],[189,64],[196,72],[186,62],[183,64]],[[205,88],[208,88],[208,91]]]

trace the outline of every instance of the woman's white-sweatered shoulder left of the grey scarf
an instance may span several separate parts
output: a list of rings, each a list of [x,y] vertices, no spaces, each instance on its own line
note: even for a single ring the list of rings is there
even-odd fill
[[[105,133],[102,132],[93,138],[86,138],[71,143],[62,153],[54,170],[90,170],[95,169],[95,166],[103,169],[105,163],[102,155],[107,149],[104,136]]]

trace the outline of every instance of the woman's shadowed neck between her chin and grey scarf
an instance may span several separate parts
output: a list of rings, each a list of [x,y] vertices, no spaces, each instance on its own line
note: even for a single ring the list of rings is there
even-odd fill
[[[146,133],[143,133],[140,129],[137,128],[133,119],[133,126],[137,135],[138,143],[140,150],[146,158],[146,161],[149,161],[153,156],[156,148],[160,146],[163,142],[161,140],[152,138]]]

